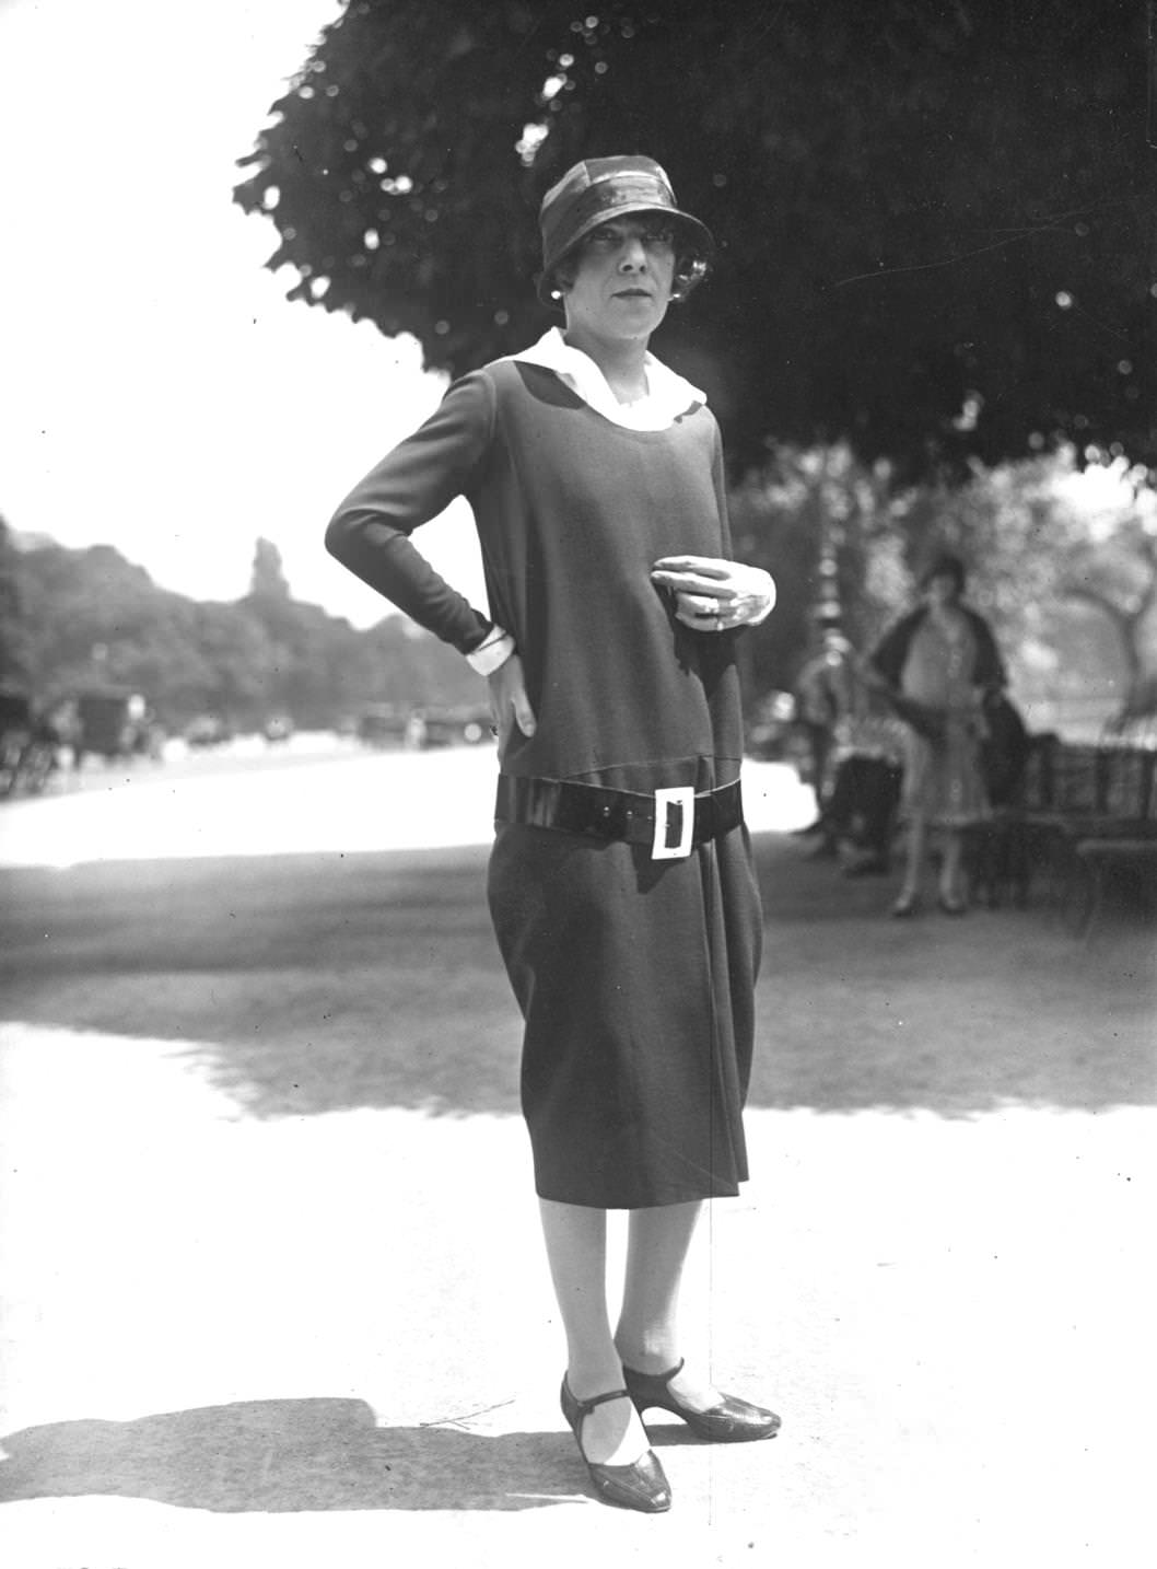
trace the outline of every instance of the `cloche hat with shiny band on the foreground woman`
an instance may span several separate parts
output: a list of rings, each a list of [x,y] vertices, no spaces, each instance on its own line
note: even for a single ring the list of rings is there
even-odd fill
[[[671,180],[654,158],[635,154],[619,158],[585,158],[550,187],[538,210],[538,226],[542,232],[538,297],[542,304],[555,303],[550,297],[555,287],[553,271],[568,251],[600,223],[626,218],[633,212],[662,212],[677,220],[684,243],[705,262],[712,259],[715,240],[710,229],[690,212],[676,207]]]

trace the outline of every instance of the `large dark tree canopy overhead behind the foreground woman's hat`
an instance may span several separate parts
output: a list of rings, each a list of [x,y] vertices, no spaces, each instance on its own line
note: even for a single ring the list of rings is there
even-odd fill
[[[351,0],[235,196],[292,297],[461,373],[550,322],[542,191],[643,151],[720,245],[658,347],[738,468],[1154,463],[1146,60],[1144,0]]]

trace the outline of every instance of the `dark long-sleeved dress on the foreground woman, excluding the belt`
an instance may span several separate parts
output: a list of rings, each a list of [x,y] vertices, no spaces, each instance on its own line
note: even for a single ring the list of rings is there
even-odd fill
[[[489,615],[409,540],[459,494]],[[738,778],[742,634],[684,626],[651,582],[663,555],[731,557],[701,397],[666,428],[629,428],[547,364],[495,361],[354,488],[326,543],[462,653],[494,623],[514,637],[538,723],[514,731],[502,774],[635,792]],[[488,897],[525,1023],[539,1196],[641,1208],[735,1194],[762,945],[743,824],[652,860],[644,844],[497,821]]]

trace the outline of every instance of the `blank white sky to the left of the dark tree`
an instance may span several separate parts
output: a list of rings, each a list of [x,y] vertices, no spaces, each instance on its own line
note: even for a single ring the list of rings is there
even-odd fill
[[[437,403],[412,339],[285,300],[274,226],[230,201],[337,0],[0,0],[0,515],[235,599],[254,543],[298,599],[389,610],[321,544]],[[462,504],[423,529],[484,606]]]

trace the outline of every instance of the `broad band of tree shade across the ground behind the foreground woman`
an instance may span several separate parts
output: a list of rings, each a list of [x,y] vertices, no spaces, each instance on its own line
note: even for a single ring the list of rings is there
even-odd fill
[[[9,1018],[193,1042],[246,1112],[506,1112],[519,1018],[484,847],[0,872]],[[1152,927],[1035,910],[889,921],[890,890],[756,841],[753,1106],[1151,1105]]]

